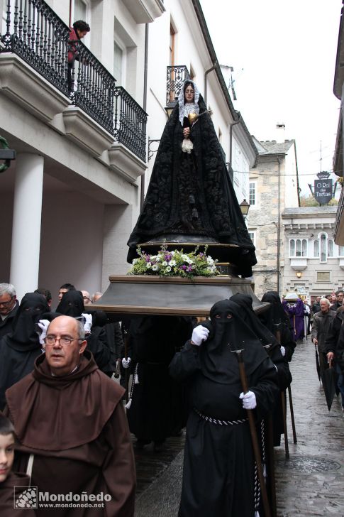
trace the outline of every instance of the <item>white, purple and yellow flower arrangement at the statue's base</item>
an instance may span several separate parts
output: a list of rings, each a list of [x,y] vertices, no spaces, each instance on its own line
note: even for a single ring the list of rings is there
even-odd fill
[[[138,258],[133,259],[133,265],[128,275],[155,275],[155,276],[182,276],[193,278],[194,276],[216,276],[217,260],[206,254],[206,248],[202,253],[197,246],[191,253],[174,249],[169,251],[167,246],[161,246],[156,255],[145,253],[138,246]]]

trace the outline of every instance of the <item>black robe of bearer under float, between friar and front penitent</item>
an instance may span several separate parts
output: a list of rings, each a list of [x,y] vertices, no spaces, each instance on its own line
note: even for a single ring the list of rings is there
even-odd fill
[[[161,443],[185,425],[183,391],[169,375],[168,366],[176,349],[190,337],[191,321],[143,317],[131,322],[130,333],[138,383],[133,383],[127,410],[129,428],[138,440]]]

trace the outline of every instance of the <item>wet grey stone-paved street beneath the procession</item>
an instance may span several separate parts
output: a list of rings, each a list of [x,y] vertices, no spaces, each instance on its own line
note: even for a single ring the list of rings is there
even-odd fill
[[[278,517],[344,517],[344,418],[336,396],[328,411],[310,339],[298,343],[291,369],[297,444],[288,415],[289,460],[283,439],[275,448]],[[137,455],[135,517],[177,516],[183,442],[184,437],[170,438],[159,455]]]

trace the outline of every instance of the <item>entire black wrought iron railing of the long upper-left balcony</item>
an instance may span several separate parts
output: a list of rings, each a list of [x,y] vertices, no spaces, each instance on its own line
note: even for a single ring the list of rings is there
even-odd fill
[[[44,0],[6,0],[0,52],[13,52],[145,160],[147,114]],[[73,59],[68,65],[68,51]],[[115,116],[113,118],[113,110]]]

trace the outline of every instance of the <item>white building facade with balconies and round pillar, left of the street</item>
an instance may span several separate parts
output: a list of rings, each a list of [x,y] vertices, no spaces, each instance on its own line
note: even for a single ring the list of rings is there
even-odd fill
[[[110,274],[128,271],[126,242],[165,107],[179,93],[179,65],[213,111],[228,170],[235,162],[246,172],[232,178],[238,201],[248,197],[257,152],[199,1],[0,0],[0,9],[0,135],[17,153],[0,175],[0,279],[19,297],[39,285],[57,302],[62,283],[104,290]],[[76,19],[91,31],[77,45],[70,95],[68,26]]]

